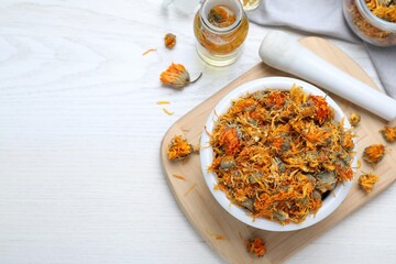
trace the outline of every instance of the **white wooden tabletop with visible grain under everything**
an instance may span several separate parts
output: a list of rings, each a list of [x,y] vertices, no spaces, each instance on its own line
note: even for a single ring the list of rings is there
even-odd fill
[[[243,56],[216,69],[196,55],[193,18],[161,0],[1,0],[0,263],[222,262],[172,196],[160,142],[260,62],[268,29],[251,24]],[[177,35],[173,51],[167,32]],[[361,45],[332,42],[380,85]],[[164,88],[158,76],[172,62],[204,77]],[[396,263],[395,191],[289,263]]]

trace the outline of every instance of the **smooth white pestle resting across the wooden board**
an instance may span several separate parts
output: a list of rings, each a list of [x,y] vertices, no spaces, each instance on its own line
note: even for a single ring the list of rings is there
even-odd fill
[[[387,121],[396,119],[395,99],[332,66],[284,32],[270,32],[258,54],[274,68],[304,78]]]

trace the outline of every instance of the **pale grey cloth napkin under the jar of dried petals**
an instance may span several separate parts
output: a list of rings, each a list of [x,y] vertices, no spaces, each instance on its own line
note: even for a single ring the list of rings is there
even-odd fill
[[[349,29],[341,0],[263,0],[261,7],[248,15],[251,22],[260,25],[286,26],[349,42],[362,42]],[[362,43],[387,94],[396,98],[396,47]]]

